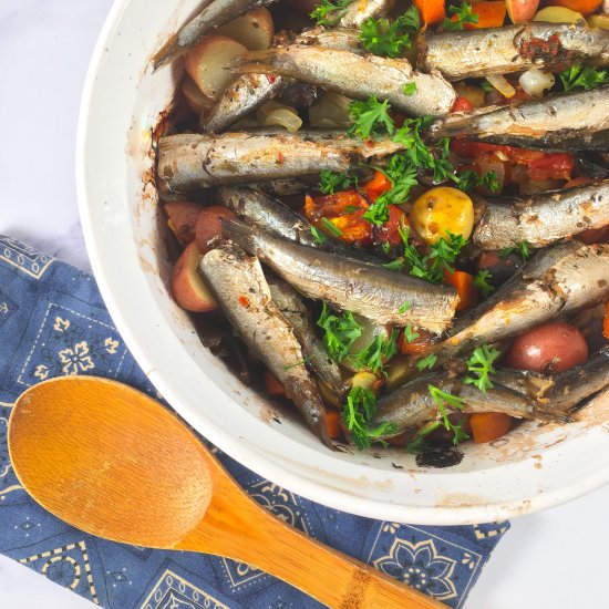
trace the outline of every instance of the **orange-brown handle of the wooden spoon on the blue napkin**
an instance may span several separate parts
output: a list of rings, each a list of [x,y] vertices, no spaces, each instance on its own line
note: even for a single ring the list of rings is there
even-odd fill
[[[445,607],[369,565],[311,539],[251,499],[235,496],[234,488],[233,493],[227,491],[214,495],[204,519],[176,549],[217,554],[247,562],[331,608]]]

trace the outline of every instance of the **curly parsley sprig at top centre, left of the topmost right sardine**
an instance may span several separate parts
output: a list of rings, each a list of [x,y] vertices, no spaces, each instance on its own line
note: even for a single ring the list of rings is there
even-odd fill
[[[363,48],[375,55],[398,58],[411,48],[410,34],[421,29],[416,7],[390,22],[389,19],[367,19],[361,25],[360,41]]]

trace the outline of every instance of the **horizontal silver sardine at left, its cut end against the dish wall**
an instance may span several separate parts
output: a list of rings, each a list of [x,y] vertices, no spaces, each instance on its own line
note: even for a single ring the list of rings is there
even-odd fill
[[[213,186],[319,176],[321,169],[341,173],[352,163],[403,147],[388,138],[363,142],[333,134],[266,130],[161,137],[157,188],[164,199],[184,198]]]

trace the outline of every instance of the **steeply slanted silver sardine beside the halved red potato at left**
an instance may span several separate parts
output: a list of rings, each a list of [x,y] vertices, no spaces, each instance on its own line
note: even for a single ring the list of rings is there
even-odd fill
[[[224,245],[203,257],[199,272],[239,336],[286,388],[309,427],[331,446],[316,383],[304,365],[293,365],[303,360],[302,348],[272,301],[258,259]]]

